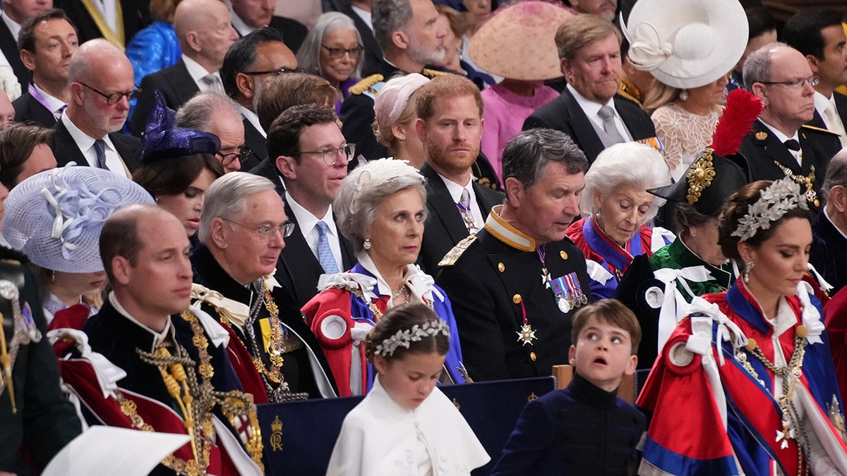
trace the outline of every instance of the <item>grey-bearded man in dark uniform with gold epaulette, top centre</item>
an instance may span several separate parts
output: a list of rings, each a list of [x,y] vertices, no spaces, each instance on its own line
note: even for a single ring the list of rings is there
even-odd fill
[[[340,112],[341,131],[356,144],[357,156],[368,160],[389,155],[374,136],[374,98],[379,89],[398,72],[421,73],[425,65],[444,58],[447,34],[446,28],[433,25],[438,12],[432,0],[374,0],[371,13],[383,58],[378,64],[365,64],[366,78],[360,83],[364,87],[353,88]]]

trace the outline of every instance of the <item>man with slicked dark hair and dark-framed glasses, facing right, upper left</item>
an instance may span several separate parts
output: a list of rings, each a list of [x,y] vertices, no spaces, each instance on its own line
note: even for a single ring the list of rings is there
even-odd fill
[[[259,95],[276,75],[297,69],[297,58],[282,42],[277,30],[262,27],[233,43],[220,69],[224,90],[238,102],[244,123],[244,141],[249,157],[241,168],[252,170],[268,158],[267,132],[259,122],[256,107]]]

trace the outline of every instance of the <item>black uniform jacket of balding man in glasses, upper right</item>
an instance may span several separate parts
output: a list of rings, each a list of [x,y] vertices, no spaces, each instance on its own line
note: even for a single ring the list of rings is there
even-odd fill
[[[747,159],[750,167],[750,181],[779,180],[785,177],[783,169],[777,165],[805,176],[811,176],[814,167],[815,180],[812,188],[821,190],[827,165],[840,149],[838,136],[826,130],[810,129],[803,126],[799,131],[800,148],[803,150],[803,166],[789,152],[788,147],[775,136],[760,120],[753,123],[753,130],[741,141],[739,152]],[[805,187],[803,189],[805,191]],[[818,210],[814,203],[810,207]]]

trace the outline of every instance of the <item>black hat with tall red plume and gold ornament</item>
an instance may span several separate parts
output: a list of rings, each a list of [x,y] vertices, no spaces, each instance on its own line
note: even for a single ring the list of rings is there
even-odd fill
[[[717,216],[723,202],[748,182],[747,161],[738,151],[761,109],[761,101],[750,92],[730,92],[711,146],[691,164],[688,174],[673,185],[648,191],[670,202],[686,202],[704,215]]]

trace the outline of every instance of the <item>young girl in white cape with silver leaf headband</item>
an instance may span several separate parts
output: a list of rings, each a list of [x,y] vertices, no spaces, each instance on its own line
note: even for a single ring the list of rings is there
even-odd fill
[[[344,419],[328,475],[470,474],[490,457],[435,387],[450,329],[429,306],[392,307],[365,341],[378,375]]]

